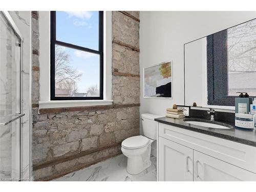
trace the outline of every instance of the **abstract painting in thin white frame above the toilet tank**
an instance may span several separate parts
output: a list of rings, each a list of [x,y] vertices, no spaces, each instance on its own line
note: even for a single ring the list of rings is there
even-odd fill
[[[169,68],[169,69],[168,69]],[[155,78],[155,79],[154,79]],[[143,98],[173,97],[173,62],[165,61],[143,68]],[[164,88],[164,89],[163,89]],[[155,90],[155,94],[153,93]],[[161,91],[165,90],[165,91]]]

